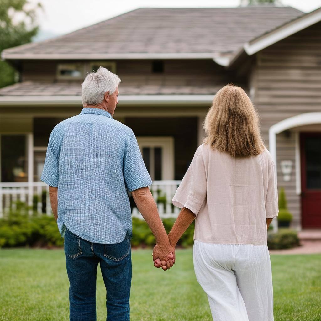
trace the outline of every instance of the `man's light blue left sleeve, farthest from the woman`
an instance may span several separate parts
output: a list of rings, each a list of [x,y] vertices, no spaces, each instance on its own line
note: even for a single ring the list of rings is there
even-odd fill
[[[49,186],[58,187],[59,166],[58,166],[58,140],[54,138],[54,132],[49,136],[45,165],[40,180]]]

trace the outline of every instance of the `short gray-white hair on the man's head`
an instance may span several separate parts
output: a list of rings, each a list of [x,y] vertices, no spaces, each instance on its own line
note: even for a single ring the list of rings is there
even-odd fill
[[[121,80],[117,75],[104,67],[99,67],[96,72],[88,74],[82,83],[82,104],[84,106],[100,104],[105,92],[113,94],[119,82]]]

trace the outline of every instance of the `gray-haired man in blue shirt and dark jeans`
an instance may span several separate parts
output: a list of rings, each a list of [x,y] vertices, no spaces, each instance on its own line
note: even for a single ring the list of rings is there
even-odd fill
[[[155,236],[153,259],[159,258],[164,270],[175,259],[134,133],[112,117],[119,82],[103,67],[86,76],[84,108],[51,132],[41,176],[65,238],[71,321],[96,320],[98,263],[107,290],[107,320],[129,321],[132,220],[127,190]]]

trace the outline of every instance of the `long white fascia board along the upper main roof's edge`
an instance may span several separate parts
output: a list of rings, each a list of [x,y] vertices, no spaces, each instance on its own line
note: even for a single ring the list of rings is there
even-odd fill
[[[14,53],[8,51],[2,51],[2,59],[213,59],[214,53],[114,53],[114,54],[37,54],[37,53]]]

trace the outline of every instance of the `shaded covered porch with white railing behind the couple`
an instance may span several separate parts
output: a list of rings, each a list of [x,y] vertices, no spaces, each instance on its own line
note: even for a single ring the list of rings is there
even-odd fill
[[[124,98],[124,97],[123,97]],[[194,97],[195,98],[195,97]],[[204,137],[202,122],[211,101],[121,102],[115,119],[131,127],[153,180],[151,187],[162,217],[176,217],[171,199]],[[6,104],[0,106],[0,215],[24,202],[29,212],[51,214],[48,186],[40,181],[53,127],[80,113],[78,103]],[[26,102],[24,102],[26,104]],[[182,108],[184,107],[184,108]],[[133,216],[141,217],[132,206]]]

